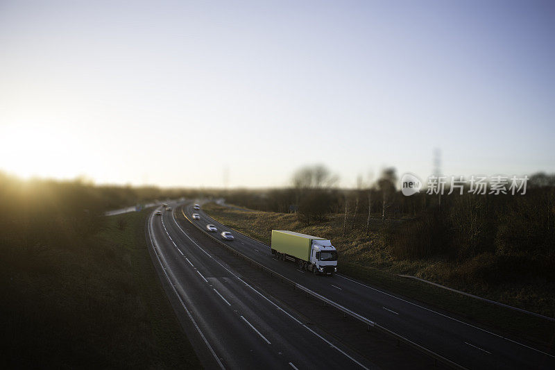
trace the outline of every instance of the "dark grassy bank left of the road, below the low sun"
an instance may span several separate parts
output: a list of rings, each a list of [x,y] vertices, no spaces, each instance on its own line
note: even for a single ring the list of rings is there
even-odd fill
[[[2,240],[1,361],[17,367],[200,368],[148,254],[146,215],[109,217],[89,236],[68,227],[56,244]]]

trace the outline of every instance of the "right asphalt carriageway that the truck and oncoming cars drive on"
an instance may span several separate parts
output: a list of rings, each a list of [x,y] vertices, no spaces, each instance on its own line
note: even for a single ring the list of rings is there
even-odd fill
[[[202,209],[194,210],[193,203],[187,203],[182,212],[189,219],[193,213],[198,213],[200,220],[191,221],[204,230],[207,224],[214,224],[218,228],[214,235],[216,237],[221,231],[232,232],[235,240],[229,242],[229,245],[248,258],[461,367],[555,369],[552,350],[535,348],[517,338],[503,337],[488,328],[481,328],[447,312],[371,287],[348,276],[312,276],[300,271],[293,262],[275,260],[268,246],[220,224]]]

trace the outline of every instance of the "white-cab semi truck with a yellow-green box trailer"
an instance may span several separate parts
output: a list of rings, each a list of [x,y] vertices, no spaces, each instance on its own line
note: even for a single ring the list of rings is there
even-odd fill
[[[272,230],[271,249],[278,260],[292,260],[299,269],[315,275],[333,275],[337,271],[337,251],[329,239],[288,230]]]

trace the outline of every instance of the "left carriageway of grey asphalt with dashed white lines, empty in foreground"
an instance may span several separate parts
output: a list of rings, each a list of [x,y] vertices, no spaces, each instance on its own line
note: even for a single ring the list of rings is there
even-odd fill
[[[146,226],[164,289],[205,368],[376,368],[247,283],[180,227],[173,211],[151,212]]]

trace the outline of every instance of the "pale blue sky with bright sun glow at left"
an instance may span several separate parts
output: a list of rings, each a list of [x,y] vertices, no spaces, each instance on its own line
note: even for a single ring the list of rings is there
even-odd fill
[[[162,187],[555,171],[553,1],[0,0],[0,170]],[[225,173],[228,181],[225,181]]]

